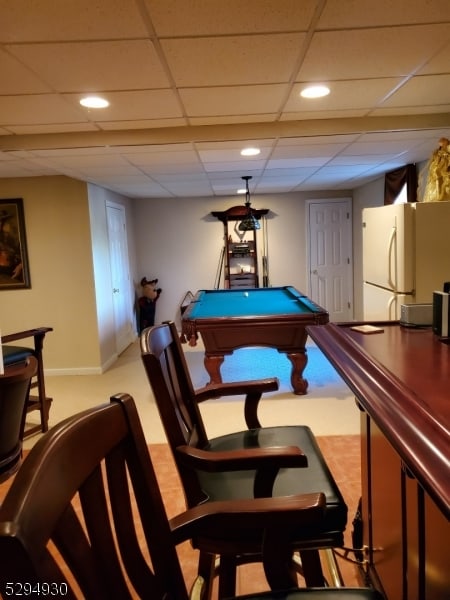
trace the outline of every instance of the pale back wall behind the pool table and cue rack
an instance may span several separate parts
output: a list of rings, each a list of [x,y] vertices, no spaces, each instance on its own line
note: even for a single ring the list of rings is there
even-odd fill
[[[270,285],[293,285],[308,293],[305,201],[349,196],[350,192],[342,191],[251,198],[253,208],[270,210]],[[156,307],[156,322],[171,319],[178,323],[186,292],[214,287],[223,247],[223,225],[211,212],[243,202],[237,196],[134,200],[137,279],[158,277],[163,289]],[[259,253],[261,248],[259,231]]]

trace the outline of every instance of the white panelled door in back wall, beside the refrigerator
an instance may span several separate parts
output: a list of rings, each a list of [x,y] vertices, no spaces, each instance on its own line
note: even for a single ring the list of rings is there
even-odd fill
[[[353,318],[351,200],[308,201],[309,297],[330,321]]]

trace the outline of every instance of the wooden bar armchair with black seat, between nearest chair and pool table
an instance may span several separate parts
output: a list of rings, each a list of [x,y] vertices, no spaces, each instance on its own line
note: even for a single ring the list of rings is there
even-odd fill
[[[295,534],[307,585],[323,585],[318,549],[343,544],[347,506],[309,427],[260,427],[256,414],[259,400],[264,391],[277,389],[278,382],[273,379],[241,381],[194,389],[174,323],[144,330],[140,343],[142,361],[187,505],[193,507],[211,500],[323,492],[327,499],[323,523],[300,529]],[[244,412],[249,429],[208,438],[199,403],[230,394],[245,397]],[[296,456],[294,450],[298,452]],[[245,551],[238,539],[233,540],[234,547],[231,538],[228,541],[228,547],[222,545],[223,551],[220,541],[216,545],[221,564],[220,597],[233,595],[238,562],[260,560],[258,543],[260,548],[261,537],[254,531],[247,536]],[[207,564],[205,554],[199,572],[210,580],[204,566]],[[331,550],[329,554],[332,559]]]

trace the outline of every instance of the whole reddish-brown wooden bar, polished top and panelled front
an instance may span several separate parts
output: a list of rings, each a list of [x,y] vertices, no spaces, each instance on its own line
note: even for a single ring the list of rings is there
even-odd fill
[[[431,329],[354,325],[308,333],[361,410],[367,573],[388,600],[450,598],[450,346]]]

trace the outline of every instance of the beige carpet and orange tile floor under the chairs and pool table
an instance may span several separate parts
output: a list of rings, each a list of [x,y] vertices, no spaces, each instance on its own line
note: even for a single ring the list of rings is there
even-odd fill
[[[199,387],[206,384],[208,378],[203,367],[201,344],[195,348],[186,345],[185,351],[194,385]],[[289,362],[286,357],[270,349],[243,349],[227,357],[222,370],[223,379],[279,377],[279,391],[269,394],[261,404],[262,422],[270,425],[303,423],[309,425],[318,436],[325,458],[349,507],[346,545],[351,545],[351,521],[360,496],[359,412],[350,390],[312,343],[308,344],[308,355],[305,375],[309,390],[305,396],[292,393]],[[103,375],[47,376],[46,387],[48,395],[53,398],[50,425],[84,408],[108,401],[114,393],[130,393],[136,401],[150,445],[168,515],[183,510],[184,499],[178,476],[165,444],[159,415],[140,362],[137,342]],[[212,437],[244,427],[239,398],[209,401],[201,409]],[[26,440],[25,447],[32,447],[38,437]],[[5,487],[5,484],[0,486],[0,498]],[[179,552],[186,580],[192,581],[196,570],[196,552],[189,544],[184,544]],[[354,565],[341,560],[339,564],[346,585],[361,584]],[[264,589],[265,580],[259,567],[242,567],[238,585],[240,593]]]

